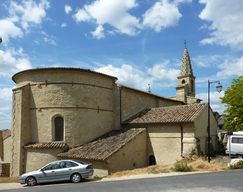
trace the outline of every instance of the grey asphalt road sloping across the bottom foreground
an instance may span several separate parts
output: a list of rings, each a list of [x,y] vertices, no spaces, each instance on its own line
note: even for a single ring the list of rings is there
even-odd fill
[[[93,182],[84,181],[78,184],[60,183],[38,185],[3,191],[13,192],[240,192],[243,191],[243,170],[208,172],[170,177],[144,178],[134,180]],[[1,190],[2,192],[2,190]]]

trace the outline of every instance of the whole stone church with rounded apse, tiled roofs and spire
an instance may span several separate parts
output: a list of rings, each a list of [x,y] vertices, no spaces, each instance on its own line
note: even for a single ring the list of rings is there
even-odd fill
[[[12,130],[0,134],[0,163],[18,176],[58,159],[93,164],[94,175],[173,164],[191,151],[207,152],[208,104],[195,97],[185,48],[176,96],[163,97],[80,68],[37,68],[16,73]],[[210,110],[211,145],[217,121]]]

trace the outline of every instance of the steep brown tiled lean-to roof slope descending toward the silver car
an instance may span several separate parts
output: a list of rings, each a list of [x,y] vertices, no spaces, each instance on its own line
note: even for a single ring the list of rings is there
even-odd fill
[[[65,158],[106,160],[145,130],[145,128],[114,130],[92,142],[72,148],[57,156]]]

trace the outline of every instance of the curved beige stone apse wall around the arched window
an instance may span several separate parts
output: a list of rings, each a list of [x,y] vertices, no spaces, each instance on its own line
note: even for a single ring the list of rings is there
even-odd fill
[[[57,116],[64,119],[64,141],[69,146],[113,129],[115,77],[90,70],[44,68],[20,72],[13,80],[17,87],[30,87],[31,142],[54,141]]]

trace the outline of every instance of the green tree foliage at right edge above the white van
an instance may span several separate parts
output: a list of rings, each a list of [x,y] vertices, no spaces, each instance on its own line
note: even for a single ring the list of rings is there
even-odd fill
[[[223,116],[226,117],[224,129],[227,131],[243,131],[243,76],[233,79],[227,87],[221,103],[227,107]]]

